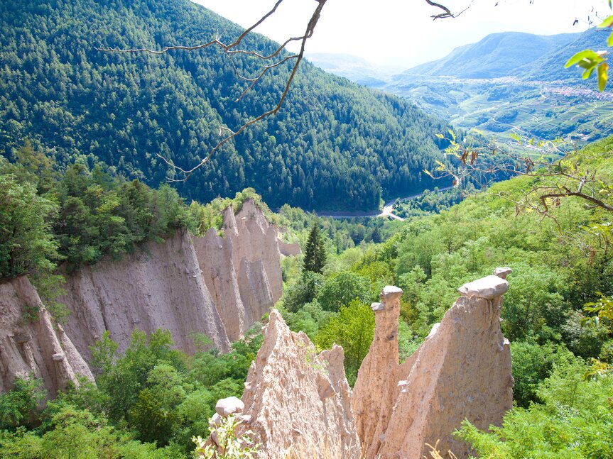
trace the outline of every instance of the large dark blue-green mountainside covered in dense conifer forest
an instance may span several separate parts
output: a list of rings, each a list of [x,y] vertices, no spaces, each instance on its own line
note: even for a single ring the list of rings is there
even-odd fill
[[[16,0],[0,6],[0,148],[31,138],[67,162],[76,155],[115,166],[156,185],[172,175],[160,153],[192,167],[219,140],[219,126],[237,128],[273,107],[288,68],[244,89],[214,49],[116,54],[94,47],[194,44],[238,26],[188,0]],[[246,48],[271,52],[254,35]],[[254,62],[235,58],[254,74]],[[207,201],[253,186],[271,206],[373,209],[381,193],[431,187],[422,174],[440,153],[442,122],[415,106],[308,62],[282,111],[229,143],[207,167],[178,184],[185,197]]]

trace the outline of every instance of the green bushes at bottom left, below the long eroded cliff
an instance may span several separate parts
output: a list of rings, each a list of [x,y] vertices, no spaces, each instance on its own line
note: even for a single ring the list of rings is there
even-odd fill
[[[35,381],[17,380],[0,396],[3,457],[187,458],[192,436],[208,435],[217,400],[242,394],[260,332],[256,324],[220,356],[217,350],[188,356],[173,349],[168,331],[138,330],[118,355],[107,333],[92,348],[97,386],[83,382],[42,413]]]

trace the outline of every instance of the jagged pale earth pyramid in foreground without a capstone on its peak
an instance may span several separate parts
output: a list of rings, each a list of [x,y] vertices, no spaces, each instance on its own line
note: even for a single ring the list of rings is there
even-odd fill
[[[285,458],[290,451],[360,457],[343,358],[339,346],[317,355],[305,333],[291,332],[271,311],[242,397],[244,428],[256,433],[266,458]]]

